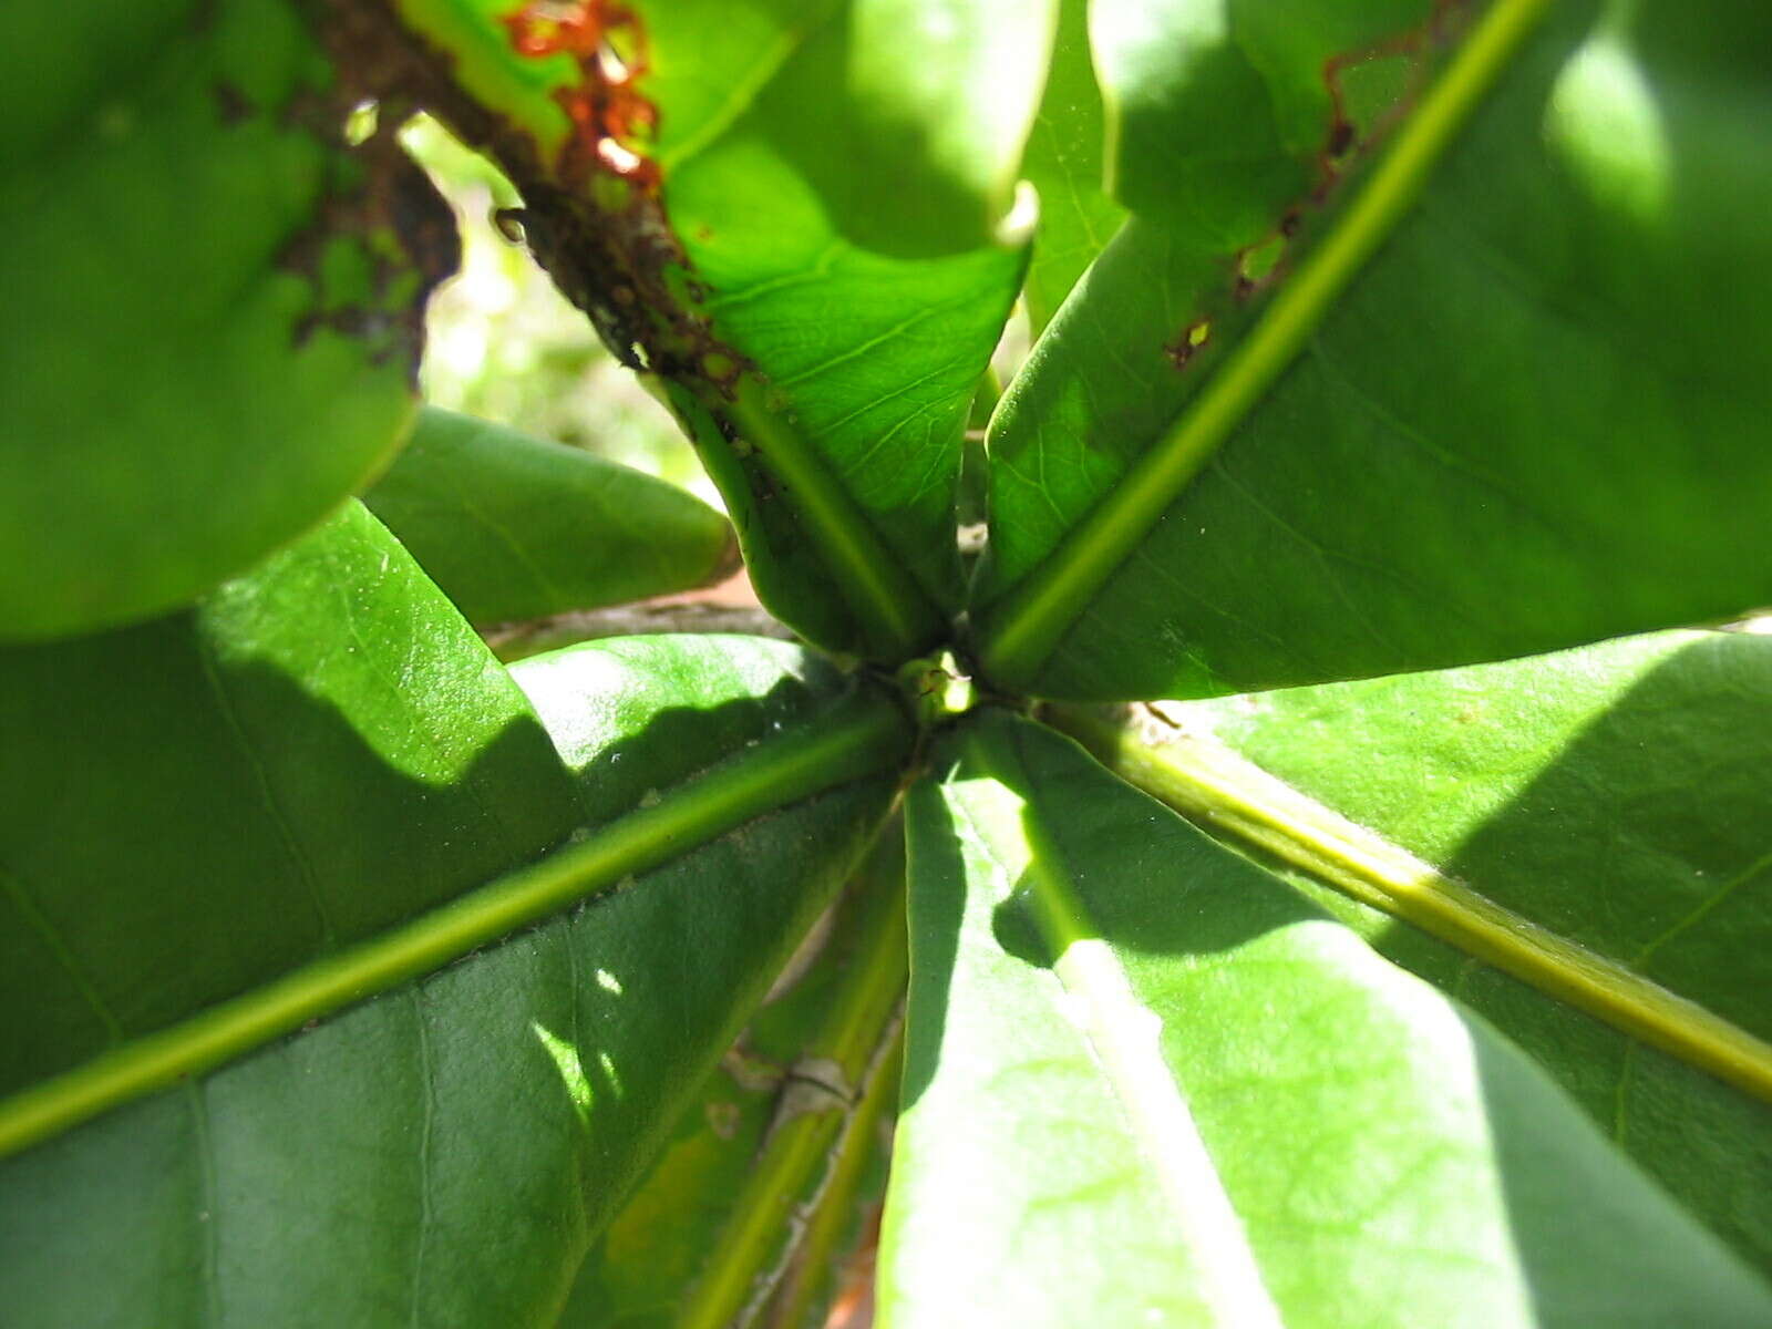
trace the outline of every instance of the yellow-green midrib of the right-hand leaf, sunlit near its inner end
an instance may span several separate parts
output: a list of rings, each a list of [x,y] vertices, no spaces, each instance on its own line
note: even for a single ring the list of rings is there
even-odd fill
[[[1512,913],[1224,744],[1143,742],[1097,714],[1049,716],[1115,773],[1177,812],[1276,854],[1361,904],[1430,932],[1545,996],[1772,1102],[1772,1044],[1690,998]]]

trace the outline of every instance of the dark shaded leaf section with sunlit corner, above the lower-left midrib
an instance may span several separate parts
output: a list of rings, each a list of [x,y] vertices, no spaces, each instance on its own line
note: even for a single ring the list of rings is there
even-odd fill
[[[190,611],[0,652],[0,1097],[579,820],[521,691],[351,505]]]

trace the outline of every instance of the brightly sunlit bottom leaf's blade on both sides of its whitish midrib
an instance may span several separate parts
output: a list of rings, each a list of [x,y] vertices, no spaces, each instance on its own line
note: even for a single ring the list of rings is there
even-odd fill
[[[1579,1324],[1595,1315],[1652,1322],[1717,1292],[1687,1283],[1694,1260],[1729,1285],[1710,1313],[1742,1322],[1763,1315],[1765,1290],[1609,1154],[1487,1026],[1377,960],[1247,863],[1223,851],[1196,856],[1209,842],[1155,815],[1154,804],[1116,787],[1061,739],[982,716],[937,769],[944,783],[920,787],[909,813],[913,1053],[882,1251],[882,1285],[895,1299],[890,1322],[936,1322],[941,1297],[969,1297],[959,1304],[985,1324],[1063,1324],[1069,1299],[1212,1322],[1198,1315],[1198,1299],[1189,1301],[1200,1285],[1173,1286],[1185,1247],[1168,1249],[1155,1278],[1141,1265],[1132,1272],[1113,1260],[1097,1267],[1042,1255],[1031,1235],[1037,1223],[1061,1228],[1061,1219],[1019,1209],[1030,1189],[1024,1177],[1033,1177],[1049,1207],[1069,1201],[1072,1249],[1102,1249],[1108,1232],[1123,1233],[1108,1249],[1129,1265],[1141,1249],[1122,1256],[1122,1246],[1173,1244],[1182,1232],[1161,1205],[1146,1210],[1155,1226],[1092,1223],[1092,1200],[1111,1194],[1109,1182],[1125,1175],[1113,1162],[1116,1146],[1079,1134],[1069,1148],[1054,1148],[1033,1122],[1067,1100],[1084,1102],[1079,1090],[1015,1093],[1006,1074],[1028,1047],[1077,1038],[1088,1022],[1063,1003],[1037,999],[1042,987],[1051,991],[1054,952],[1065,943],[1026,902],[1038,884],[1017,882],[1019,865],[1042,852],[1060,861],[1088,911],[1092,937],[1111,950],[1146,1019],[1162,1021],[1170,1090],[1180,1092],[1196,1122],[1285,1322],[1412,1324],[1441,1313],[1494,1324]],[[994,828],[983,822],[999,870],[960,881],[953,874],[969,872],[969,851],[966,833],[952,829],[953,804],[978,796],[1021,810]],[[1045,851],[1037,847],[1042,836]],[[959,891],[978,898],[955,898]],[[1154,909],[1159,898],[1164,909]],[[1001,1015],[1010,1010],[1001,1001],[982,1001],[985,971],[1010,976],[1021,999],[1049,1019],[1017,1024]],[[994,1028],[996,1037],[973,1037],[978,1028]],[[934,1063],[934,1049],[950,1038],[964,1042]],[[1095,1063],[1081,1044],[1074,1047],[1056,1065],[1076,1065],[1070,1074],[1081,1076]],[[1028,1065],[1044,1063],[1035,1056]],[[934,1095],[944,1076],[960,1088],[943,1104]],[[1093,1076],[1099,1084],[1104,1072]],[[991,1122],[969,1132],[976,1148],[969,1166],[964,1150],[943,1150],[932,1134],[939,1123],[944,1134],[966,1136],[955,1113]],[[1111,1111],[1086,1108],[1081,1116],[1099,1134],[1113,1120]],[[1028,1120],[1026,1131],[1006,1125],[1019,1120]],[[921,1150],[930,1150],[923,1161]],[[960,1180],[950,1177],[955,1168]],[[1097,1214],[1106,1212],[1102,1200]],[[1561,1249],[1542,1239],[1570,1223],[1582,1233],[1563,1237]],[[1607,1235],[1598,1237],[1595,1224]],[[1005,1235],[968,1237],[968,1292],[957,1285],[964,1274],[955,1260],[943,1269],[939,1247],[960,1246],[960,1232],[980,1228]],[[1379,1228],[1407,1232],[1407,1251],[1386,1249]],[[1646,1272],[1644,1262],[1666,1258],[1667,1242],[1682,1255]],[[1660,1310],[1641,1299],[1662,1299]]]

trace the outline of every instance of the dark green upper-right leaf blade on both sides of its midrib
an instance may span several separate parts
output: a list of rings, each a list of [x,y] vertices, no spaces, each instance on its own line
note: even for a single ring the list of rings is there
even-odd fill
[[[1079,700],[1219,695],[1540,652],[1763,601],[1745,571],[1758,560],[1742,562],[1765,489],[1745,424],[1760,413],[1756,388],[1740,372],[1753,353],[1721,344],[1687,294],[1696,268],[1722,271],[1751,243],[1721,200],[1768,186],[1737,147],[1737,115],[1754,96],[1744,51],[1761,34],[1745,11],[1701,37],[1675,27],[1660,12],[1558,11],[1306,354],[1177,501],[1141,514],[1141,537],[1093,599],[1054,615],[1067,633],[1053,668],[1014,682]],[[1636,126],[1628,149],[1618,135],[1605,142],[1639,165],[1662,151],[1673,172],[1650,211],[1598,161],[1611,149],[1582,117],[1602,103]],[[1497,179],[1513,184],[1497,191]],[[1125,282],[1166,252],[1191,257],[1159,273],[1168,314],[1146,294],[1154,314],[1115,324],[1108,310],[1127,294],[1106,284],[1093,317],[1076,310],[1053,326],[1063,342],[1070,323],[1074,363],[1054,346],[1030,361],[1044,365],[1044,388],[1010,388],[994,503],[1015,516],[987,606],[1038,581],[1031,569],[1146,464],[1148,441],[1205,409],[1249,346],[1221,337],[1235,340],[1249,317],[1260,337],[1265,319],[1246,299],[1255,308],[1272,285],[1262,308],[1285,312],[1290,282],[1320,252],[1310,246],[1340,230],[1313,207],[1290,214],[1297,239],[1276,218],[1279,264],[1249,287],[1235,280],[1249,250],[1196,245],[1154,216],[1139,218],[1143,246],[1131,236],[1109,248],[1097,275],[1113,273],[1120,248]],[[1636,376],[1616,330],[1650,305],[1682,312],[1657,324],[1662,358]],[[1209,337],[1185,349],[1189,330]],[[1065,376],[1084,372],[1109,406],[1079,416]],[[1690,448],[1708,461],[1689,464]],[[1731,493],[1712,473],[1731,475]],[[1162,641],[1161,659],[1136,659],[1134,640]]]

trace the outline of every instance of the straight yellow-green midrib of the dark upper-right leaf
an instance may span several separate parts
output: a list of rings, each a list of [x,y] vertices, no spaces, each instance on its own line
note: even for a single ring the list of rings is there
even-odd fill
[[[983,610],[978,656],[985,673],[1005,684],[1026,682],[1045,663],[1095,592],[1304,351],[1341,291],[1407,216],[1549,7],[1550,0],[1494,0],[1338,223],[1279,287],[1219,372],[1053,553]]]

